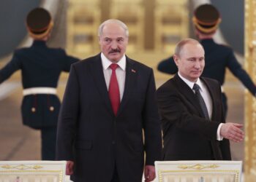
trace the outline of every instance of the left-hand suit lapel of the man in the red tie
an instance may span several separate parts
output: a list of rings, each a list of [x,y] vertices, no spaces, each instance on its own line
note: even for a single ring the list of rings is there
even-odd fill
[[[91,64],[91,74],[94,78],[94,83],[99,90],[99,94],[104,100],[104,103],[111,114],[113,114],[113,109],[111,107],[110,98],[108,96],[108,88],[106,86],[105,77],[103,74],[102,60],[100,54],[95,57],[95,61]]]

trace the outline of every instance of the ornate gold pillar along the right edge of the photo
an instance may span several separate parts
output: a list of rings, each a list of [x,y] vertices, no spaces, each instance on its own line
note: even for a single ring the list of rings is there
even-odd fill
[[[245,1],[245,67],[256,82],[256,1]],[[256,100],[246,92],[245,96],[245,177],[246,182],[256,179]]]

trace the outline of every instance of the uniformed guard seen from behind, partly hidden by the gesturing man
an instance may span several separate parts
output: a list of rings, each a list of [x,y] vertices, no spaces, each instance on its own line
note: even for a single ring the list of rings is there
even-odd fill
[[[211,4],[200,5],[195,9],[192,22],[195,25],[195,34],[200,39],[200,44],[203,45],[205,50],[206,66],[202,76],[217,79],[223,85],[225,82],[225,69],[228,68],[244,84],[249,92],[255,95],[256,86],[238,63],[238,60],[236,60],[233,50],[230,47],[217,44],[213,39],[221,22],[219,11]],[[157,69],[167,74],[176,74],[178,71],[173,57],[162,60]],[[227,97],[223,91],[222,88],[222,103],[226,117]]]

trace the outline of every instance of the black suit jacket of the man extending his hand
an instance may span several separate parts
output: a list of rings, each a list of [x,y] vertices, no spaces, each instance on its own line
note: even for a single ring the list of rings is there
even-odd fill
[[[211,121],[203,117],[194,92],[177,74],[157,90],[164,160],[231,159],[229,141],[217,141],[217,128],[225,122],[219,83],[200,79],[213,101]]]

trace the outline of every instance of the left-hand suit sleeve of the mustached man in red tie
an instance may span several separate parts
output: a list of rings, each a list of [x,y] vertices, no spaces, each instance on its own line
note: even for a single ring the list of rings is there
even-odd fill
[[[58,119],[56,158],[73,161],[72,149],[79,110],[79,84],[75,66],[71,67]]]

